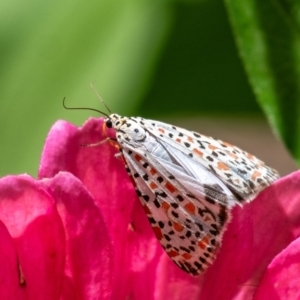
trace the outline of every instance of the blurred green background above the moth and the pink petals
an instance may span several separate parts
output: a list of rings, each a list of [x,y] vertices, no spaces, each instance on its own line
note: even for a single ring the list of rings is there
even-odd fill
[[[266,123],[299,161],[300,35],[294,20],[300,20],[300,10],[295,5],[1,1],[0,175],[36,176],[56,120],[80,126],[97,116],[64,110],[63,97],[69,106],[104,109],[91,82],[113,112],[212,134],[283,173],[296,169]],[[269,22],[258,22],[266,12]],[[276,39],[269,38],[274,31]],[[274,84],[281,78],[288,80]]]

